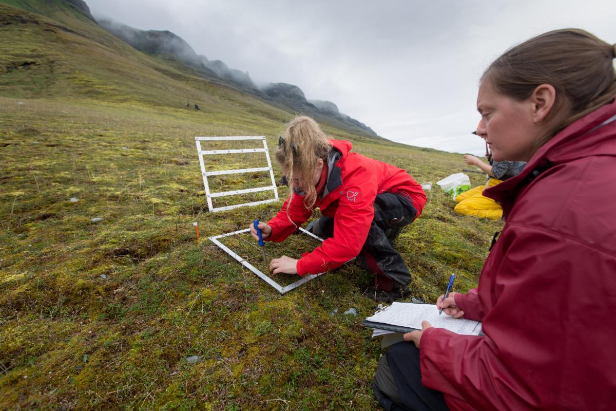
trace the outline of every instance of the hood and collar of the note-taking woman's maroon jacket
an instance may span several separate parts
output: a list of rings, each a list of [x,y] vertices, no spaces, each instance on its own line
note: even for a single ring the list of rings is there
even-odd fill
[[[484,190],[484,195],[501,203],[506,215],[511,208],[506,203],[548,168],[590,156],[616,156],[615,134],[616,99],[567,126],[537,150],[520,174]]]

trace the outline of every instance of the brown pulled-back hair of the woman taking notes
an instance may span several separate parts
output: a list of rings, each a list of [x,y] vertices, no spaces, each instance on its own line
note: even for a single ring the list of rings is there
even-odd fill
[[[540,84],[554,86],[556,101],[546,121],[561,118],[540,136],[534,153],[569,124],[614,99],[615,56],[616,45],[587,31],[548,31],[506,51],[484,71],[481,81],[519,101],[528,99]]]

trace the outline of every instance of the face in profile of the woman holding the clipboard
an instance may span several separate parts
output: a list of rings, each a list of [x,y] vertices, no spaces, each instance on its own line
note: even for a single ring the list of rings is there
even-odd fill
[[[533,102],[514,100],[495,91],[488,79],[477,96],[481,121],[477,135],[488,143],[495,161],[528,161],[541,129],[533,123]]]

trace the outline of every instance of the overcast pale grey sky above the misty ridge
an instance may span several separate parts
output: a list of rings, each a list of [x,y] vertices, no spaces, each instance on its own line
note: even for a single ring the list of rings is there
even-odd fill
[[[477,155],[469,133],[493,59],[556,28],[616,42],[613,0],[86,2],[94,17],[172,31],[256,83],[296,84],[387,139]]]

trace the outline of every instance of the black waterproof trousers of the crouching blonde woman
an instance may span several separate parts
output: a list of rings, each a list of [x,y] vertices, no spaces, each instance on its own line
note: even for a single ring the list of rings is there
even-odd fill
[[[392,242],[402,227],[415,220],[417,210],[409,198],[393,193],[376,195],[374,208],[375,217],[357,261],[370,274],[376,274],[377,286],[381,290],[406,288],[411,274]],[[309,226],[309,230],[321,238],[333,237],[334,219],[323,216]]]

